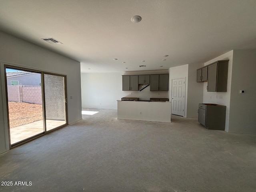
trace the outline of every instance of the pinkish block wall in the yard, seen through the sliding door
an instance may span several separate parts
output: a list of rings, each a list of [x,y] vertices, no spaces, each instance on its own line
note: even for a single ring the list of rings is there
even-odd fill
[[[42,104],[41,86],[8,85],[8,101]]]

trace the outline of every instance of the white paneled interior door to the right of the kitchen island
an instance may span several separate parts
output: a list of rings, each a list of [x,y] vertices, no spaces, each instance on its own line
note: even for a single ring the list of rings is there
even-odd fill
[[[185,78],[172,79],[172,114],[184,116]]]

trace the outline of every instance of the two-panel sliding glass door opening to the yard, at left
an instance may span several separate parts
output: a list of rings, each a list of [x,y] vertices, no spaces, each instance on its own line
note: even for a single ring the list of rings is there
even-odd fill
[[[5,66],[10,147],[67,124],[66,76]]]

